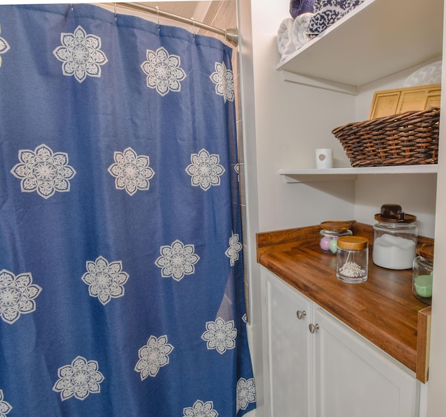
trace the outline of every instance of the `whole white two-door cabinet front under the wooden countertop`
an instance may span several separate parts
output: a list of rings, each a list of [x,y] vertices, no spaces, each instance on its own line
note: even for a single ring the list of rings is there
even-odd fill
[[[270,271],[262,268],[261,275],[266,415],[418,416],[420,383],[413,372]]]

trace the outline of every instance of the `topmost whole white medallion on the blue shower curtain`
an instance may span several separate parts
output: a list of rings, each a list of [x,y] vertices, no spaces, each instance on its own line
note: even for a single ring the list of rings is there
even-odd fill
[[[53,54],[62,61],[63,75],[74,75],[78,82],[83,82],[87,75],[100,77],[100,66],[108,59],[100,50],[99,36],[87,35],[82,26],[77,26],[74,33],[61,33],[61,43]]]

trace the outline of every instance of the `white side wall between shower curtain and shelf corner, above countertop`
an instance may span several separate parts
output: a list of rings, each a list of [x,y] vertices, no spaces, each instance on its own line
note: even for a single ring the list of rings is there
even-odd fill
[[[353,96],[284,82],[275,68],[277,29],[289,17],[289,0],[252,0],[257,181],[260,231],[353,218],[354,185],[334,185],[336,199],[326,206],[327,184],[286,184],[281,168],[314,168],[314,149],[333,148],[339,166],[348,165],[331,130],[351,121]],[[337,105],[332,105],[336,99]],[[310,122],[309,121],[314,121]]]

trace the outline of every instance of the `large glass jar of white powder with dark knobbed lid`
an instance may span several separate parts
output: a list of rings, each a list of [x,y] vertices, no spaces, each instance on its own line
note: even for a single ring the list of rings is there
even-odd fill
[[[417,217],[403,213],[399,204],[383,204],[375,220],[374,264],[388,269],[412,268],[418,240]]]

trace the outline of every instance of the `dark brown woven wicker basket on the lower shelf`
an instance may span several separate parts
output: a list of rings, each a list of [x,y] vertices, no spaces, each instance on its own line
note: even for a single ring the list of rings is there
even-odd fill
[[[332,130],[352,167],[436,164],[440,109],[348,123]]]

